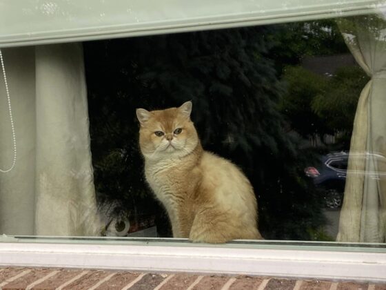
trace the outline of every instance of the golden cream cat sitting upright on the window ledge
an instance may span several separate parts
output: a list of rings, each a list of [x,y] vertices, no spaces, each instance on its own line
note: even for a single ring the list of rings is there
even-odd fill
[[[191,101],[179,108],[136,109],[145,178],[165,206],[174,238],[262,239],[249,180],[232,162],[203,150],[191,112]]]

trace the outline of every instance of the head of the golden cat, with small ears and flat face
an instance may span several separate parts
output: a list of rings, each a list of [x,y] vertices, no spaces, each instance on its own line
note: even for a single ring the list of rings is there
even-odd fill
[[[179,108],[153,110],[136,109],[141,128],[139,144],[141,152],[149,160],[183,157],[191,153],[199,143],[196,129],[190,120],[192,102]]]

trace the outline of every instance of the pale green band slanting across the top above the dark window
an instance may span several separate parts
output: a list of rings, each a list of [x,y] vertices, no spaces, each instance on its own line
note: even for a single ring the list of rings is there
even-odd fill
[[[0,47],[385,12],[370,0],[1,0]]]

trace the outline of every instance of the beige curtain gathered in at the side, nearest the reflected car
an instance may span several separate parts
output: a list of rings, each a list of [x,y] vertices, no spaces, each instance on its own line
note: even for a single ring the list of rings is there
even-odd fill
[[[385,242],[386,21],[368,15],[339,21],[347,46],[372,77],[358,101],[352,133],[340,242]]]

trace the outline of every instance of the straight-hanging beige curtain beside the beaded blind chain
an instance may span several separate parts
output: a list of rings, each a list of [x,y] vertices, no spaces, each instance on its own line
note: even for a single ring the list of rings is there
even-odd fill
[[[17,164],[0,173],[0,234],[98,235],[79,43],[3,49]],[[0,77],[0,168],[12,164]]]

